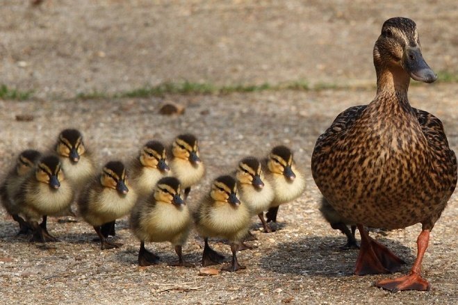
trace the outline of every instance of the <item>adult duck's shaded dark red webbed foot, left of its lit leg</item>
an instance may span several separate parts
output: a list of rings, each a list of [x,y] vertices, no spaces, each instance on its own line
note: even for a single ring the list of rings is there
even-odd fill
[[[387,247],[370,238],[361,224],[358,224],[361,234],[361,249],[357,259],[354,274],[380,274],[397,272],[405,262],[393,254]]]

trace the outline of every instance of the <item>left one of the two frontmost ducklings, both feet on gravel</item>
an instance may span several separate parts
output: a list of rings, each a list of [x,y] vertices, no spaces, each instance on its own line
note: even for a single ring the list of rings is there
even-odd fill
[[[140,240],[138,265],[148,266],[159,261],[158,256],[145,249],[145,241],[172,242],[178,262],[171,265],[194,267],[184,261],[181,248],[188,239],[191,215],[180,197],[180,182],[175,177],[158,181],[154,192],[147,199],[138,201],[131,213],[131,229]]]

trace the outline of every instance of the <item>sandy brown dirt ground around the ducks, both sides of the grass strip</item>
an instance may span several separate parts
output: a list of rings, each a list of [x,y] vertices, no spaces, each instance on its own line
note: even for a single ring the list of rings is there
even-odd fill
[[[75,100],[78,92],[120,92],[163,81],[217,84],[313,82],[372,83],[373,42],[385,19],[412,17],[423,54],[436,71],[458,72],[456,1],[57,1],[38,8],[7,0],[0,6],[0,83],[33,90],[31,101],[0,100],[0,168],[16,154],[48,149],[61,129],[83,131],[97,164],[130,160],[150,140],[195,133],[208,167],[190,193],[196,204],[211,179],[247,155],[265,156],[285,144],[306,176],[304,195],[281,206],[279,230],[254,232],[258,247],[241,252],[247,270],[199,276],[202,239],[191,234],[184,254],[195,268],[169,267],[166,243],[149,244],[162,258],[138,267],[139,242],[127,218],[117,224],[120,249],[101,251],[82,220],[51,218],[61,242],[29,243],[15,236],[0,211],[0,299],[5,304],[456,304],[458,195],[432,231],[423,274],[430,292],[391,293],[373,287],[386,277],[352,274],[356,251],[341,251],[345,237],[318,211],[311,177],[313,145],[338,113],[367,104],[374,90],[265,91],[229,95],[168,95],[151,99]],[[457,83],[411,87],[412,106],[440,117],[458,151]],[[163,116],[163,101],[186,107]],[[31,114],[31,122],[16,115]],[[420,225],[374,233],[405,261],[416,256]],[[213,240],[229,256],[229,246]]]

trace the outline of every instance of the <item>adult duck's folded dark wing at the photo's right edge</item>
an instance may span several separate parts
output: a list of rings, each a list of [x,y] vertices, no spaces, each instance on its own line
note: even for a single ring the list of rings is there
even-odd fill
[[[448,140],[440,119],[424,110],[414,109],[421,130],[434,156],[434,165],[442,179],[450,181],[450,196],[457,186],[457,156],[448,146]]]

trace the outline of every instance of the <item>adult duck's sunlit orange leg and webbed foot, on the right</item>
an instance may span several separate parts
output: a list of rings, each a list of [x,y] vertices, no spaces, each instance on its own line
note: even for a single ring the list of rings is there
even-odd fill
[[[423,279],[420,274],[421,263],[428,247],[428,242],[430,242],[430,230],[423,229],[417,239],[418,254],[414,265],[412,265],[410,274],[404,277],[398,277],[398,279],[378,281],[375,283],[375,286],[391,290],[391,292],[400,290],[430,290],[430,283]]]

